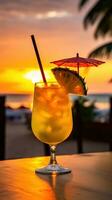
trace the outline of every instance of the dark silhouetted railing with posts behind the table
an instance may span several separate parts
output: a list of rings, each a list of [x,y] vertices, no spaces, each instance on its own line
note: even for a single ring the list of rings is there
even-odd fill
[[[77,132],[77,152],[83,153],[84,138],[91,140],[105,141],[109,143],[109,151],[112,151],[112,98],[110,98],[110,114],[109,122],[89,122],[82,121],[79,102],[76,101],[76,119],[74,124],[75,134]],[[30,123],[30,122],[29,122]],[[5,96],[0,96],[0,160],[5,159],[5,133],[6,117],[5,117]],[[48,145],[44,146],[45,155],[49,155]]]

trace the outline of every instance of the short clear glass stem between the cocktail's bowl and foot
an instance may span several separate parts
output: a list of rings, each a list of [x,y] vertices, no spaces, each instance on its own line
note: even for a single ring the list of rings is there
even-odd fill
[[[52,145],[50,146],[50,152],[51,152],[51,157],[50,157],[50,165],[55,165],[57,164],[56,161],[56,146]]]

